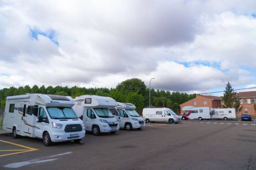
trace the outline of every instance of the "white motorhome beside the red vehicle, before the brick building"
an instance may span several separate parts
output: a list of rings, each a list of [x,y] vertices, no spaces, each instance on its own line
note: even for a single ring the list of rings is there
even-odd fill
[[[203,120],[203,119],[210,119],[210,108],[209,107],[193,107],[193,106],[184,106],[182,108],[184,111],[189,111],[189,114],[186,116],[189,119],[198,119],[198,120]]]

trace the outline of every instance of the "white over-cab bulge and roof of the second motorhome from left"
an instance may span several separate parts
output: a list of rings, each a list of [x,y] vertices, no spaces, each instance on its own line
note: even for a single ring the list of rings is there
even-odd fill
[[[85,100],[90,98],[90,103],[85,103]],[[98,95],[82,95],[74,99],[75,102],[81,102],[82,106],[85,107],[98,107],[98,108],[108,108],[116,107],[117,102],[111,97],[104,97]]]

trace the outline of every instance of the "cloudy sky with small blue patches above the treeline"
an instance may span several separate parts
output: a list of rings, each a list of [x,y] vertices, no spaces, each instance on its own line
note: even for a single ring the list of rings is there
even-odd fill
[[[255,0],[0,0],[0,89],[256,87]]]

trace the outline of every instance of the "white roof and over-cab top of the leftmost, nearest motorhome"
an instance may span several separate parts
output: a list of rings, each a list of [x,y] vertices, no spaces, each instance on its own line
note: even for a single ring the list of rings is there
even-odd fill
[[[74,100],[70,96],[44,95],[38,93],[8,96],[6,100],[29,102],[30,105],[44,105],[46,107],[72,107],[74,105]]]

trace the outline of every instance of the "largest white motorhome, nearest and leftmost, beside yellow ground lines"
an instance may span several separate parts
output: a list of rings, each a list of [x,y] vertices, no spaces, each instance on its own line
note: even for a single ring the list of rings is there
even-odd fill
[[[85,130],[72,110],[74,100],[69,96],[27,94],[6,97],[3,129],[13,138],[29,136],[52,142],[84,138]]]

